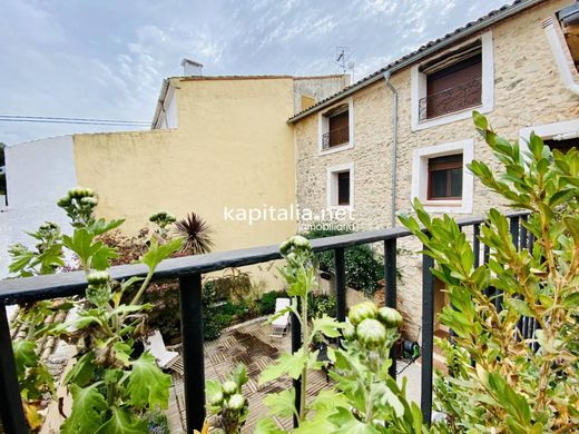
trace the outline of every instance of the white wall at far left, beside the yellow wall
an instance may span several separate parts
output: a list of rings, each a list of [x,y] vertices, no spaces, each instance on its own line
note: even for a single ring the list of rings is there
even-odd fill
[[[50,220],[70,233],[66,214],[56,205],[77,186],[71,136],[8,146],[6,149],[8,207],[0,209],[0,278],[8,275],[8,246],[33,246],[24,234]]]

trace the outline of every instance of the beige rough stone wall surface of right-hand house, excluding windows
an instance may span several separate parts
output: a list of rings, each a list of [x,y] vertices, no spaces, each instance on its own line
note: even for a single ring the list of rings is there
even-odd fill
[[[485,29],[492,34],[493,108],[485,114],[501,136],[518,139],[528,127],[579,118],[579,96],[562,85],[541,21],[569,4],[546,1]],[[436,55],[438,56],[438,55]],[[474,159],[498,167],[490,149],[478,137],[469,118],[413,130],[411,125],[411,68],[394,72],[392,85],[399,91],[398,181],[395,213],[411,213],[413,154],[416,149],[473,140]],[[391,226],[392,119],[393,93],[384,80],[366,86],[352,97],[354,146],[321,155],[318,150],[320,115],[314,112],[295,124],[297,203],[320,213],[327,207],[327,168],[354,165],[354,213],[356,230]],[[344,101],[341,101],[343,103]],[[482,216],[503,201],[477,179],[473,185],[472,214]],[[445,210],[446,211],[446,210]],[[455,215],[457,218],[468,215]],[[399,284],[400,308],[410,319],[408,333],[419,334],[421,322],[421,269],[410,238],[399,247],[408,250],[399,257],[402,280]]]

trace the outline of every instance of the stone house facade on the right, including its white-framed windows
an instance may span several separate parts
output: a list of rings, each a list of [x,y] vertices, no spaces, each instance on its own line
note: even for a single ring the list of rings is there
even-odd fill
[[[516,1],[291,118],[298,206],[349,209],[356,230],[398,225],[416,197],[457,218],[504,209],[465,167],[498,166],[472,110],[522,147],[532,130],[551,147],[579,146],[579,75],[559,13],[576,6]],[[421,246],[399,248],[408,253],[399,256],[399,307],[416,337],[421,264],[411,251]],[[444,298],[439,288],[439,309]]]

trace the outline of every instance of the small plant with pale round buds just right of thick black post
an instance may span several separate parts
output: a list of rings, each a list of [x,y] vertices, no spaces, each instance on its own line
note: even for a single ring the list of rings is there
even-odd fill
[[[248,415],[248,402],[243,396],[243,385],[249,381],[245,365],[239,364],[222,384],[214,379],[206,382],[209,413],[216,416],[214,432],[239,433]]]

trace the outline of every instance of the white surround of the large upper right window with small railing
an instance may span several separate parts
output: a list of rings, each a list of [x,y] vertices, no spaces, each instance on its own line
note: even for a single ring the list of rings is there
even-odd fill
[[[481,36],[470,39],[459,46],[452,47],[453,50],[461,46],[467,46],[474,42],[477,39],[481,40],[482,47],[482,91],[481,91],[481,105],[477,107],[469,107],[468,109],[455,111],[448,115],[442,115],[432,119],[420,120],[420,100],[426,97],[426,75],[420,71],[422,63],[414,65],[410,70],[410,97],[411,97],[411,128],[412,131],[419,131],[425,128],[436,127],[439,125],[445,125],[455,122],[458,120],[468,119],[472,116],[473,110],[478,110],[481,114],[491,112],[494,108],[494,55],[492,45],[492,31],[485,31]],[[446,52],[443,52],[435,58],[443,58]],[[435,58],[430,58],[431,61]]]

